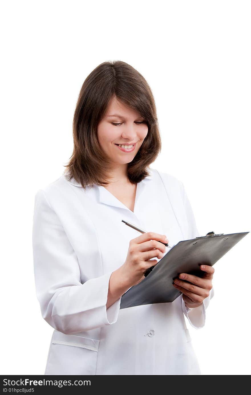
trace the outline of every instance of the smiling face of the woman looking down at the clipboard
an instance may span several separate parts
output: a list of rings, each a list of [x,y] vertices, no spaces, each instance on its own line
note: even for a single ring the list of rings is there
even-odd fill
[[[136,156],[147,132],[147,123],[137,111],[112,98],[98,124],[98,142],[113,164],[123,165]]]

